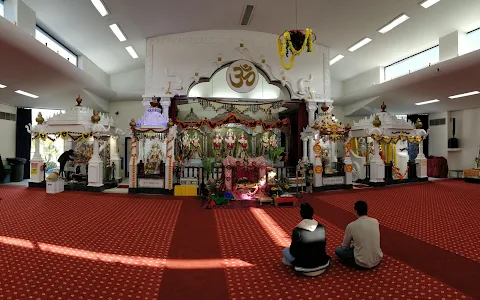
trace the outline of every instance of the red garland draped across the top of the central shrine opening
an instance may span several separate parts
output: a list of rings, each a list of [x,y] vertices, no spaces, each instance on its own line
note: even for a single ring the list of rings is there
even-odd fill
[[[277,120],[274,123],[267,123],[264,121],[260,120],[250,120],[250,121],[244,121],[238,118],[235,114],[229,114],[226,116],[223,120],[213,122],[212,120],[200,120],[196,122],[182,122],[182,121],[177,121],[177,126],[181,130],[189,129],[189,128],[195,128],[195,129],[200,129],[202,126],[207,126],[210,129],[215,129],[217,127],[227,125],[227,124],[241,124],[244,125],[250,129],[255,129],[257,126],[261,126],[264,131],[271,130],[271,129],[287,129],[290,130],[290,120],[289,119],[283,119],[283,120]]]

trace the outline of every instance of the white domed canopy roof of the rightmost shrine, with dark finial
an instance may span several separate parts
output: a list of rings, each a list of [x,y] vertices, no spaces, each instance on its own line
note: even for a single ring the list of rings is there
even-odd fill
[[[415,136],[415,126],[413,123],[398,119],[385,111],[387,106],[382,104],[382,112],[363,118],[354,122],[351,129],[352,138],[376,136],[377,140],[382,137],[398,140],[403,137]]]

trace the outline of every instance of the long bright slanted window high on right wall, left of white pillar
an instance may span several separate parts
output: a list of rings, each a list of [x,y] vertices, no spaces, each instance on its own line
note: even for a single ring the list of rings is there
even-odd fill
[[[436,64],[440,60],[440,48],[435,46],[385,67],[385,81],[409,74]]]

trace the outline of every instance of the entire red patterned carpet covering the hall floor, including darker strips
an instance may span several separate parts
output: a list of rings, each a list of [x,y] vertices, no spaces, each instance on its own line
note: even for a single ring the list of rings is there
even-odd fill
[[[480,299],[475,189],[439,181],[305,195],[330,255],[360,198],[384,225],[385,253],[373,271],[333,258],[305,278],[280,261],[298,207],[206,210],[191,198],[0,186],[0,299]]]

